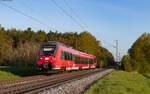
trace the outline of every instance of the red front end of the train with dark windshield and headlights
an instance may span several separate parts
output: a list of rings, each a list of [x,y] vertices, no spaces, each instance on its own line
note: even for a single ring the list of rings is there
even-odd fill
[[[45,42],[40,46],[37,57],[37,66],[40,71],[48,71],[53,68],[53,59],[55,58],[56,45],[51,42]]]

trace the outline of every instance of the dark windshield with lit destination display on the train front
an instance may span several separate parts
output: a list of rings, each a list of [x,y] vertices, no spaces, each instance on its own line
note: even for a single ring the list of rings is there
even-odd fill
[[[43,46],[41,49],[41,54],[44,56],[50,56],[53,55],[55,52],[55,48],[54,46]]]

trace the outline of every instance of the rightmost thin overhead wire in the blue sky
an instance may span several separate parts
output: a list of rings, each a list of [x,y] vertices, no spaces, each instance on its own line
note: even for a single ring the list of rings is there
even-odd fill
[[[70,9],[70,11],[78,18],[78,20],[84,24],[84,26],[88,27],[88,25],[81,19],[81,17],[74,11],[74,9],[69,5],[67,0],[64,0],[66,6]]]

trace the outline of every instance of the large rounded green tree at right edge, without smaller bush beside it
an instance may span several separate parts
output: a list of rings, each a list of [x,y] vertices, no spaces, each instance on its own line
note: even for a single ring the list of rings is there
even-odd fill
[[[130,57],[135,61],[133,68],[140,73],[150,72],[150,34],[142,34],[129,49]]]

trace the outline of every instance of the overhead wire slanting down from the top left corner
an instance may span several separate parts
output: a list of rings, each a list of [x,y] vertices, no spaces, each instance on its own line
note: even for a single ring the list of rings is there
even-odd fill
[[[21,14],[21,15],[23,15],[23,16],[25,16],[25,17],[27,17],[27,18],[29,18],[29,19],[31,19],[31,20],[33,20],[33,21],[35,21],[35,22],[37,22],[37,23],[39,23],[39,24],[41,24],[41,25],[43,25],[43,26],[48,27],[49,29],[55,30],[54,28],[50,27],[48,24],[43,23],[42,21],[38,20],[37,18],[34,18],[33,16],[25,14],[21,10],[18,10],[18,9],[16,9],[16,8],[10,6],[10,5],[7,5],[6,3],[0,2],[0,4],[7,7],[7,8],[9,8],[9,9],[11,9],[11,10],[13,10],[13,11],[15,11],[15,12],[17,12],[17,13],[19,13],[19,14]]]

